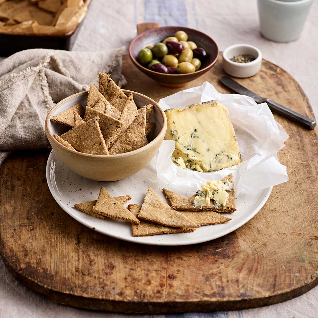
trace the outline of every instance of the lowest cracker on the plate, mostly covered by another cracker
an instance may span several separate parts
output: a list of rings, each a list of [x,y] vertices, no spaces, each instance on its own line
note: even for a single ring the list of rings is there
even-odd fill
[[[141,209],[140,205],[129,204],[128,210],[138,217],[139,211]],[[191,228],[181,228],[181,227],[170,227],[161,224],[157,224],[150,221],[140,220],[139,225],[132,224],[131,230],[133,236],[150,236],[157,234],[171,234],[171,233],[188,233],[193,232],[196,229]]]

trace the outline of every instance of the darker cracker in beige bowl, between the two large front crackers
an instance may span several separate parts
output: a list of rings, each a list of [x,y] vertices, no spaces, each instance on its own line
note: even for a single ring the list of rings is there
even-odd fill
[[[106,147],[107,149],[110,148],[115,141],[115,138],[120,133],[120,129],[122,127],[122,122],[118,119],[108,116],[106,114],[103,114],[99,112],[98,110],[95,110],[94,108],[87,107],[84,121],[88,121],[91,118],[94,118],[98,116],[100,118],[99,120],[99,126],[101,133],[104,137]]]

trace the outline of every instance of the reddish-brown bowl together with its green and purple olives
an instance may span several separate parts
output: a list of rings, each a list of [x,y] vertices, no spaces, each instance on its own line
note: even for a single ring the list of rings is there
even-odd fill
[[[218,55],[218,45],[208,35],[180,26],[145,31],[129,46],[135,66],[168,87],[182,87],[203,75]]]

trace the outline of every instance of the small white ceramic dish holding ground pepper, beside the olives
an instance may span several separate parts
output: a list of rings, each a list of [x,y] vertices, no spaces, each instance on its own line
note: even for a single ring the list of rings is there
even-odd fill
[[[237,63],[230,60],[234,56],[241,54],[250,54],[255,59],[248,63]],[[223,51],[223,68],[224,71],[231,76],[240,78],[251,77],[259,71],[261,65],[262,53],[255,46],[248,44],[234,44]]]

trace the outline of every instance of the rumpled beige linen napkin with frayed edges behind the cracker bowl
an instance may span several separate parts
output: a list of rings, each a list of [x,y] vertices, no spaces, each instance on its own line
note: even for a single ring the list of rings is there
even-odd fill
[[[31,49],[0,63],[0,165],[12,150],[49,146],[45,118],[69,95],[98,85],[98,72],[111,73],[120,87],[125,47],[103,52]]]

